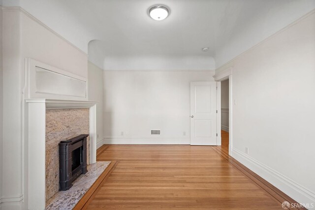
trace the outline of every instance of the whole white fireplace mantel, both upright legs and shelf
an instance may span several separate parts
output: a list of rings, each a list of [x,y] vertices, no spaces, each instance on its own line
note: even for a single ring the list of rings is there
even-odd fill
[[[24,107],[25,192],[28,209],[44,210],[46,206],[45,134],[46,110],[89,108],[90,163],[96,162],[96,104],[92,101],[26,99]]]

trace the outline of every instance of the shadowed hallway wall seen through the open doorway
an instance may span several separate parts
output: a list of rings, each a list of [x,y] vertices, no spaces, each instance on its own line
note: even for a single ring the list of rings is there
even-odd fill
[[[228,132],[228,79],[221,81],[221,129]]]

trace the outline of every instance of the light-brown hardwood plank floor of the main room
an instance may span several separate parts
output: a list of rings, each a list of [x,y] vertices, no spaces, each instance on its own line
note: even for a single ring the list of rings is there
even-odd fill
[[[264,180],[236,165],[223,147],[103,146],[97,160],[117,163],[83,209],[282,210],[290,198],[262,187]]]

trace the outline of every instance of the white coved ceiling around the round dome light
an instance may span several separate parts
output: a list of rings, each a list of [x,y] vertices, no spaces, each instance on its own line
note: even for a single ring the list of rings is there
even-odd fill
[[[170,8],[162,21],[147,14],[158,3]],[[140,67],[145,58],[166,59],[166,66],[170,58],[189,61],[165,69],[214,69],[315,8],[315,0],[3,0],[13,4],[89,52],[103,69],[163,68]],[[94,39],[100,41],[88,49]]]

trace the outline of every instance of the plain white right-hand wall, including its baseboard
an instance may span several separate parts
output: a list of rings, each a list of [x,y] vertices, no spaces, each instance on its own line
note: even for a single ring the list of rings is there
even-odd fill
[[[233,68],[232,156],[296,201],[315,204],[314,58],[315,11],[216,73]]]

